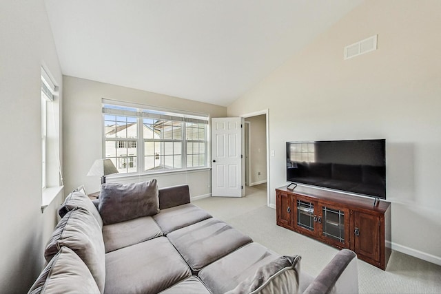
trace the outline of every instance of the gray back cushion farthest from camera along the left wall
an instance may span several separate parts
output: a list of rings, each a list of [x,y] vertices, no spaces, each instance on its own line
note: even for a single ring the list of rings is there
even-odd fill
[[[87,209],[92,213],[92,215],[95,217],[96,222],[100,225],[100,227],[103,227],[103,219],[101,218],[101,215],[99,214],[98,209],[96,209],[95,205],[93,204],[92,200],[90,200],[89,196],[87,196],[85,193],[83,193],[84,190],[80,189],[78,191],[73,191],[66,197],[64,200],[64,203],[61,204],[61,207],[59,208],[59,215],[61,218],[65,216],[68,211],[72,211],[77,208],[81,209]]]

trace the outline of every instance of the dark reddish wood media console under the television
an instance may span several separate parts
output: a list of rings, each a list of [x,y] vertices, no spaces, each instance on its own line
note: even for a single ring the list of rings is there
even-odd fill
[[[391,255],[391,204],[334,191],[297,186],[276,189],[277,224],[386,269]],[[386,246],[386,240],[389,241]]]

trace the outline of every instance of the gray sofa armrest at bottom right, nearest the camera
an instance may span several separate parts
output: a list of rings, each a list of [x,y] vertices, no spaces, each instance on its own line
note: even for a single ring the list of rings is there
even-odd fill
[[[358,293],[357,255],[342,249],[309,284],[304,293]]]

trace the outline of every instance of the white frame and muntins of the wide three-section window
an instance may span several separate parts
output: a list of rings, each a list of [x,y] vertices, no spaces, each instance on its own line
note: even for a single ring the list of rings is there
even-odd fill
[[[163,109],[158,107],[152,107],[148,105],[138,105],[134,103],[124,103],[121,101],[111,101],[107,99],[102,99],[102,112],[103,112],[103,132],[102,132],[102,142],[103,142],[103,158],[106,157],[105,148],[106,142],[108,141],[136,141],[136,171],[134,172],[121,172],[119,176],[123,175],[134,175],[134,174],[157,174],[157,173],[167,173],[174,171],[186,171],[192,169],[207,169],[209,168],[209,115],[208,114],[196,114],[193,112],[182,112],[173,109]],[[121,108],[116,108],[121,107]],[[105,118],[106,115],[111,116],[127,116],[136,118],[137,123],[137,134],[136,138],[106,138],[105,134]],[[144,138],[144,119],[156,119],[164,121],[178,121],[181,122],[181,139],[164,139],[164,138]],[[187,140],[186,124],[187,123],[197,123],[205,125],[205,138],[201,140]],[[145,152],[144,147],[146,142],[161,142],[161,143],[181,143],[181,167],[167,168],[167,169],[152,169],[150,171],[145,170]],[[187,143],[203,143],[204,146],[204,162],[203,165],[197,167],[187,167]],[[119,143],[116,143],[119,144]],[[128,143],[127,143],[128,144]],[[165,154],[161,154],[165,156]],[[128,155],[125,156],[128,160]],[[116,157],[112,157],[113,160]],[[164,158],[165,159],[165,158]],[[116,162],[114,162],[116,163]],[[127,161],[128,164],[128,161]]]

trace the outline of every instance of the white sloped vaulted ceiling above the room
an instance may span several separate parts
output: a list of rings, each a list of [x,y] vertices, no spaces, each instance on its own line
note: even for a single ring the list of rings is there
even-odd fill
[[[63,74],[227,106],[362,0],[45,0]]]

